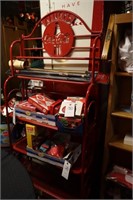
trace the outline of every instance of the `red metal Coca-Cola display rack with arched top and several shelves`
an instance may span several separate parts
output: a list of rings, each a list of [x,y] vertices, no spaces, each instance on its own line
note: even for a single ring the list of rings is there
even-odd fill
[[[82,34],[76,29],[77,23],[82,26]],[[34,32],[40,25],[44,32],[42,36],[34,37]],[[60,31],[57,30],[57,27],[60,28]],[[91,30],[77,14],[66,10],[56,10],[40,19],[31,34],[22,35],[10,46],[10,70],[4,84],[4,96],[11,150],[17,152],[17,155],[24,155],[22,157],[23,164],[31,175],[35,188],[41,191],[41,194],[52,198],[88,198],[91,192],[91,183],[95,177],[95,155],[99,151],[97,131],[99,92],[97,80],[99,80],[100,71],[101,34],[101,31]],[[34,46],[35,41],[41,41],[42,46]],[[18,55],[14,55],[14,48],[16,47],[19,49]],[[33,53],[37,51],[41,53],[39,55]],[[64,65],[65,62],[69,65],[72,63],[75,70],[73,72],[46,70],[45,65],[48,60],[50,63],[54,61],[61,63],[61,65]],[[17,61],[17,64],[15,64],[15,61]],[[42,67],[40,69],[40,61],[44,62],[44,69]],[[81,68],[86,64],[88,71],[76,72],[74,61],[81,63]],[[32,68],[33,62],[34,64],[37,63],[34,68]],[[54,66],[52,67],[54,68]],[[71,140],[81,145],[80,155],[70,168],[68,180],[61,175],[63,165],[57,166],[50,163],[49,158],[42,160],[39,155],[35,158],[32,156],[32,152],[27,152],[26,137],[15,142],[12,140],[9,125],[11,113],[8,112],[8,101],[13,93],[18,92],[18,87],[10,91],[9,86],[12,79],[21,83],[19,91],[22,94],[22,100],[27,100],[29,97],[28,82],[30,80],[42,81],[43,92],[55,101],[59,99],[63,101],[67,97],[84,98],[82,115],[78,118],[82,118],[81,131],[79,131],[79,127],[65,129],[58,126],[59,113],[56,113],[56,125],[54,126],[13,114],[14,123],[23,122],[44,127],[44,135],[46,130],[53,135],[56,132],[70,134]],[[75,117],[71,119],[74,121]],[[38,160],[38,162],[35,160]]]

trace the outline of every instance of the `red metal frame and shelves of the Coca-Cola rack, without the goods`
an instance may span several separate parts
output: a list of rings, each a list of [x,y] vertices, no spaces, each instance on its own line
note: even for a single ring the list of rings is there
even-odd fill
[[[75,34],[73,30],[74,21],[78,20],[84,26],[86,33]],[[56,35],[55,27],[60,26],[61,33]],[[42,25],[44,27],[44,34],[42,37],[34,37],[35,30]],[[54,31],[53,31],[54,30]],[[46,169],[44,170],[43,164],[37,164],[32,161],[32,158],[27,161],[28,165],[25,166],[29,171],[33,184],[35,188],[46,193],[47,195],[63,199],[63,198],[88,198],[89,187],[91,187],[91,180],[93,178],[92,168],[95,159],[95,152],[97,150],[98,143],[98,133],[96,127],[97,120],[97,110],[98,110],[98,85],[96,82],[96,76],[99,73],[100,68],[100,55],[101,55],[101,32],[91,30],[84,20],[77,14],[66,11],[66,10],[56,10],[53,11],[42,19],[40,19],[35,25],[31,34],[22,37],[19,40],[15,40],[10,46],[10,60],[11,67],[8,72],[9,77],[4,84],[4,95],[6,99],[6,108],[8,107],[8,86],[12,79],[17,79],[22,82],[21,92],[22,97],[27,97],[27,91],[25,90],[26,81],[32,80],[42,80],[44,82],[46,92],[52,94],[53,98],[66,98],[67,96],[83,96],[85,97],[84,105],[84,123],[83,123],[83,133],[80,136],[80,141],[82,144],[81,158],[79,159],[79,164],[76,162],[70,171],[70,179],[66,181],[61,177],[61,170],[56,167],[53,174],[48,173]],[[60,38],[60,40],[59,40]],[[86,47],[77,46],[77,40],[84,40],[88,42]],[[41,40],[42,48],[38,47],[27,47],[27,42]],[[15,46],[19,46],[18,55],[13,54],[13,49]],[[59,49],[60,46],[60,49]],[[55,50],[55,48],[57,48]],[[43,55],[33,56],[31,51],[41,50]],[[57,52],[59,50],[59,52]],[[88,52],[88,56],[72,56],[74,51]],[[47,56],[44,56],[47,53]],[[31,69],[16,69],[13,65],[13,60],[37,60],[37,59],[51,59],[51,60],[88,60],[88,72],[76,74],[74,73],[59,73],[53,75],[53,72],[47,70],[31,70]],[[81,64],[82,67],[82,64]],[[51,74],[50,74],[51,73]],[[77,78],[78,77],[78,78]],[[12,93],[12,92],[10,92]],[[10,115],[7,110],[7,122],[9,124]],[[38,122],[26,120],[23,118],[18,118],[19,121],[35,124],[38,126],[44,126],[52,131],[57,131],[57,127],[48,126]],[[11,136],[10,127],[9,133]],[[76,134],[76,133],[75,133]],[[26,151],[26,140],[23,138],[17,143],[12,144],[12,139],[10,137],[11,147],[13,151],[27,155]],[[45,166],[47,163],[44,164]],[[49,164],[48,164],[49,165]],[[38,166],[38,167],[37,167]],[[48,170],[48,167],[47,167]],[[60,170],[60,173],[59,173]],[[45,173],[46,171],[46,173]],[[52,180],[58,172],[58,185],[57,181]],[[73,173],[71,173],[73,172]],[[48,178],[46,178],[49,175]],[[46,177],[45,177],[46,176]],[[45,179],[46,178],[46,179]],[[52,186],[50,181],[52,182]],[[47,184],[47,181],[49,182]],[[61,181],[61,182],[59,182]],[[63,184],[66,185],[63,188]]]

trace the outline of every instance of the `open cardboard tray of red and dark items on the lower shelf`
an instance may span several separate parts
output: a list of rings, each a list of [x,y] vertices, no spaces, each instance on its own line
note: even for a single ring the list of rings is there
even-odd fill
[[[41,138],[41,136],[40,136]],[[65,160],[73,165],[81,154],[81,145],[71,141],[69,134],[57,132],[39,140],[34,137],[33,148],[27,145],[27,155],[63,167]]]

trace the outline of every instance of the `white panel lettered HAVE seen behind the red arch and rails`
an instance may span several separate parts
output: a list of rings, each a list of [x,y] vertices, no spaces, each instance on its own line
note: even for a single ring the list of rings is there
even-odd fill
[[[93,20],[93,12],[94,12],[94,0],[40,0],[40,10],[41,10],[41,18],[48,14],[51,11],[54,10],[69,10],[77,15],[79,15],[85,22],[86,24],[92,28],[92,20]],[[102,11],[100,11],[102,12]],[[96,13],[98,15],[98,13]],[[42,29],[42,34],[44,32],[44,28]],[[74,32],[79,31],[80,34],[83,32],[85,33],[85,29],[82,24],[76,24],[74,27]],[[82,46],[88,46],[88,43],[86,42],[82,43]],[[76,53],[77,54],[77,53]],[[77,56],[75,53],[72,56]],[[79,54],[79,52],[78,52]],[[88,56],[88,52],[80,52],[79,56]],[[60,65],[60,62],[53,60],[52,63],[56,66]],[[45,61],[45,64],[50,64],[48,60]],[[71,61],[66,61],[63,62],[63,66],[71,64],[72,65],[77,65],[76,70],[80,71],[87,71],[88,70],[88,61],[77,61],[77,60],[71,60]],[[82,64],[82,68],[81,68]],[[50,66],[50,65],[48,65]],[[79,67],[78,67],[79,66]],[[47,65],[46,65],[47,67]],[[71,67],[72,68],[72,67]],[[73,68],[72,68],[73,69]]]

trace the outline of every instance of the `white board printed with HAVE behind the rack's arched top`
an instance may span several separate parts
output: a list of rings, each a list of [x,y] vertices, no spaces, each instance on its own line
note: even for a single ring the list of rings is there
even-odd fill
[[[93,8],[94,8],[94,0],[40,0],[40,11],[41,11],[41,18],[44,17],[47,13],[55,11],[55,10],[68,10],[74,13],[77,13],[91,28],[92,27],[92,20],[93,20]],[[96,13],[97,14],[97,13]],[[73,30],[75,35],[80,34],[88,34],[87,29],[84,27],[80,20],[76,19],[75,24],[73,24]],[[44,32],[44,27],[42,27],[42,35]],[[75,46],[89,46],[90,40],[76,40]],[[44,57],[49,56],[46,52],[44,53]],[[73,51],[71,57],[88,57],[89,52],[83,51]],[[79,71],[88,71],[88,60],[45,60],[45,67],[49,65],[53,65],[53,67],[60,67],[60,62],[63,62],[63,66],[69,67],[69,70],[76,69]],[[83,65],[81,67],[81,64]],[[70,69],[71,68],[71,69]],[[67,69],[68,71],[68,69]]]

